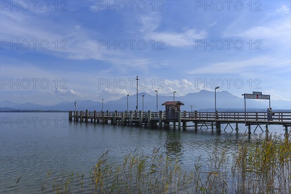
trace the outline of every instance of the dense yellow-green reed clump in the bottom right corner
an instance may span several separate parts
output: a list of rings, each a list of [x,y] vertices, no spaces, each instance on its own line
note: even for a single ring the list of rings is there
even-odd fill
[[[232,175],[236,193],[291,193],[290,138],[269,136],[258,144],[244,144],[234,160]]]

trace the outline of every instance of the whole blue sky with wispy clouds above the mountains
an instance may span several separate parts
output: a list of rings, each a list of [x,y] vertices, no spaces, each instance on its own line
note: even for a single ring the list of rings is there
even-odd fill
[[[0,101],[291,99],[291,1],[1,1]]]

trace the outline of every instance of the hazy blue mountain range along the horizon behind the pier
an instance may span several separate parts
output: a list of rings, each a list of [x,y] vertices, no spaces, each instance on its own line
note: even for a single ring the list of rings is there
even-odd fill
[[[138,110],[142,110],[142,99],[144,97],[144,111],[156,111],[157,109],[157,97],[149,95],[147,93],[138,94]],[[179,100],[184,103],[181,106],[182,111],[191,111],[190,105],[193,105],[194,110],[215,110],[215,95],[214,92],[208,90],[201,90],[197,93],[189,93],[185,96],[175,97],[175,100]],[[69,111],[74,110],[74,102],[77,101],[76,110],[89,111],[102,110],[102,102],[93,100],[74,100],[74,101],[62,101],[60,103],[45,106],[40,104],[27,103],[14,103],[11,101],[2,101],[0,103],[0,111],[24,111],[24,110],[42,110],[42,111]],[[158,110],[164,110],[162,103],[166,101],[173,101],[172,97],[158,96]],[[216,107],[217,110],[244,110],[244,99],[230,94],[227,91],[216,92]],[[249,109],[262,109],[265,110],[269,107],[269,100],[253,100],[246,99],[246,108]],[[274,110],[291,110],[291,101],[274,100],[271,101],[271,107]],[[136,95],[129,96],[129,111],[136,109]],[[125,111],[127,110],[127,97],[121,97],[117,100],[111,100],[103,103],[103,110],[109,111]]]

